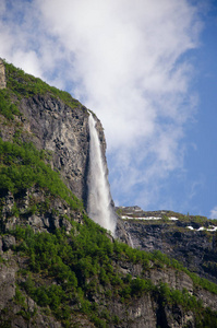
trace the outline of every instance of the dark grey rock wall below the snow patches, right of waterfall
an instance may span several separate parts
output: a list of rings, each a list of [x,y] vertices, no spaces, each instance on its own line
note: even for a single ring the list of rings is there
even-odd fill
[[[124,215],[128,213],[124,208]],[[131,215],[161,216],[162,211],[153,212],[131,212]],[[166,211],[165,211],[166,212]],[[136,218],[136,216],[135,216]],[[204,223],[204,225],[210,225]],[[186,226],[195,226],[194,231]],[[215,232],[197,231],[201,224],[193,221],[181,222],[170,221],[143,221],[143,220],[121,220],[118,221],[117,235],[128,243],[130,246],[161,253],[174,258],[183,263],[190,271],[196,272],[203,278],[206,278],[217,283],[217,239]]]

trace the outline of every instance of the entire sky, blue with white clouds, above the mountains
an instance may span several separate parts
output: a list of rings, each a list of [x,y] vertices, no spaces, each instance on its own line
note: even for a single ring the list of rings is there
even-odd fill
[[[217,2],[1,0],[0,57],[101,120],[116,204],[217,218]]]

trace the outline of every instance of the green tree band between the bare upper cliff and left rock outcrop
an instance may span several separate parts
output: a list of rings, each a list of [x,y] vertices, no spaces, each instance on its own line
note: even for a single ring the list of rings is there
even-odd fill
[[[0,187],[13,194],[34,185],[60,196],[73,209],[82,209],[82,202],[63,184],[59,173],[43,161],[44,151],[33,143],[15,144],[0,138]]]

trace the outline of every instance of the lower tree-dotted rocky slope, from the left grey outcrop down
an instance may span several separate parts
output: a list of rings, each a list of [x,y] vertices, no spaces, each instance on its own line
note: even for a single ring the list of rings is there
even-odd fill
[[[1,213],[0,327],[217,327],[217,290],[200,286],[160,257],[112,239],[103,246],[101,232],[88,227],[84,235],[89,223],[83,212],[60,198],[36,187],[15,198],[9,192],[1,195]],[[34,235],[17,230],[26,225]],[[64,233],[57,235],[59,229]],[[55,237],[52,244],[45,232],[61,243]],[[55,245],[59,257],[53,257]],[[76,280],[70,280],[69,267]]]

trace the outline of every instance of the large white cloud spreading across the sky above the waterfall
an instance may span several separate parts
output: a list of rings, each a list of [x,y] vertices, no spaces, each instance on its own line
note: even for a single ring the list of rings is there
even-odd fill
[[[183,164],[184,125],[194,110],[184,55],[197,46],[197,9],[185,0],[22,2],[1,23],[4,56],[62,89],[71,84],[98,115],[114,198],[132,198],[140,185],[142,199],[156,191],[153,181],[160,189]]]

